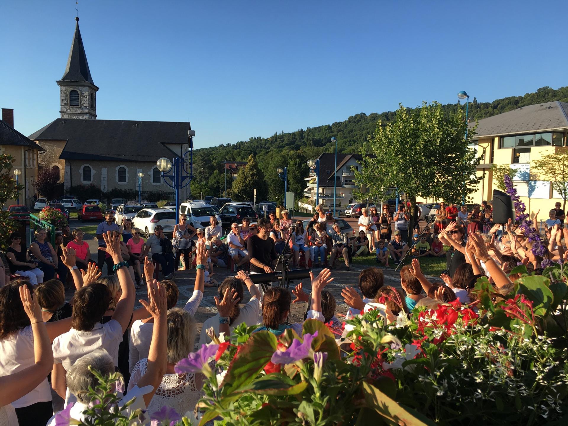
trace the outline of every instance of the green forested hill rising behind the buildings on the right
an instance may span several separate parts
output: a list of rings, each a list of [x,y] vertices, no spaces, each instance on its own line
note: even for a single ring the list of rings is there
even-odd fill
[[[516,108],[533,105],[539,102],[562,101],[568,102],[568,86],[559,89],[541,87],[535,92],[527,93],[524,96],[512,96],[503,99],[496,99],[493,102],[478,102],[473,98],[469,104],[469,118],[481,120],[482,118],[514,110]],[[446,111],[454,111],[458,103],[443,105]],[[331,138],[335,136],[338,141],[338,151],[344,153],[355,153],[361,147],[369,135],[371,135],[377,125],[377,120],[388,122],[395,116],[394,111],[381,112],[377,114],[356,114],[350,116],[343,122],[325,124],[323,126],[308,127],[306,130],[300,129],[295,132],[275,132],[268,137],[251,137],[248,141],[237,143],[222,144],[217,147],[201,148],[194,152],[194,185],[195,189],[210,193],[219,194],[219,190],[224,190],[224,161],[247,161],[250,154],[254,154],[258,167],[264,174],[268,185],[267,197],[274,198],[279,194],[282,182],[272,182],[277,175],[272,169],[278,166],[289,166],[290,190],[299,197],[303,192],[303,178],[307,176],[307,166],[305,161],[315,158],[323,152],[333,152],[335,145],[331,143]],[[303,164],[302,164],[303,162]],[[294,164],[297,163],[297,164]],[[293,176],[290,177],[290,168]],[[298,170],[295,170],[295,169]],[[297,176],[294,176],[297,173]],[[227,179],[227,188],[232,184]],[[193,190],[194,195],[198,193]]]

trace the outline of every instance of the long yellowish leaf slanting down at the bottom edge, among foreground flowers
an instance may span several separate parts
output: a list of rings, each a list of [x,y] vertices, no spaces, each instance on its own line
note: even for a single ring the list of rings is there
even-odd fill
[[[363,382],[363,394],[367,407],[373,408],[383,416],[386,424],[412,426],[435,425],[435,423],[411,408],[403,407],[376,387]]]

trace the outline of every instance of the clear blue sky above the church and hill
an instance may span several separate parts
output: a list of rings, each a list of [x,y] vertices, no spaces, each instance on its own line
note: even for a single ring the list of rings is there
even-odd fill
[[[59,117],[75,2],[0,5],[0,106]],[[568,84],[566,1],[80,1],[99,119],[187,121],[195,147]]]

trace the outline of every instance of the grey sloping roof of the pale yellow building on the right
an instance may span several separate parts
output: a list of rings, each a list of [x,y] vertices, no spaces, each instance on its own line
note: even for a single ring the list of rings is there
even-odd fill
[[[475,123],[470,123],[475,126]],[[474,139],[568,129],[568,103],[537,103],[479,120]]]

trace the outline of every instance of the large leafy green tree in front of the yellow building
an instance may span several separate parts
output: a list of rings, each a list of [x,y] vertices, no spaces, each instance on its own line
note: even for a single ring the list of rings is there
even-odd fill
[[[465,111],[444,113],[433,102],[410,109],[400,105],[393,122],[377,122],[375,134],[361,149],[361,172],[357,185],[365,185],[367,197],[382,198],[397,187],[411,202],[410,229],[414,225],[416,197],[461,201],[474,191],[481,177],[475,177],[480,158],[465,139]],[[408,233],[408,242],[412,232]]]

